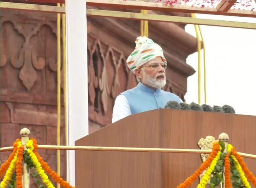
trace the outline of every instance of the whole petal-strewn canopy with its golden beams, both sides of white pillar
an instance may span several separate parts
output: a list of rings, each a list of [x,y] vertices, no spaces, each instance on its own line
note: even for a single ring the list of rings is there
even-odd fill
[[[65,7],[56,6],[56,3],[65,4],[65,0],[20,1],[22,3],[1,2],[1,8],[65,13]],[[49,3],[54,6],[49,5]],[[87,9],[87,16],[102,16],[123,19],[154,20],[164,22],[256,29],[256,19],[255,22],[253,21],[253,23],[245,23],[225,20],[197,19],[190,17],[159,15],[152,12],[149,14],[127,12],[127,10],[130,9],[137,9],[256,18],[256,0],[86,0],[86,5],[125,9],[125,11]]]

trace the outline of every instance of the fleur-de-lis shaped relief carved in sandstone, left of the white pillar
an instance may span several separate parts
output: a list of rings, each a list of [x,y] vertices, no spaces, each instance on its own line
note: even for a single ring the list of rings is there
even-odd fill
[[[13,24],[14,30],[21,34],[25,39],[25,42],[22,44],[19,53],[13,55],[12,57],[10,57],[10,59],[12,66],[20,69],[19,78],[22,80],[24,86],[29,91],[37,79],[36,70],[42,70],[45,67],[44,58],[38,57],[35,47],[30,44],[30,39],[31,37],[38,34],[43,25],[50,26],[52,30],[54,30],[54,26],[51,22],[47,20],[41,20],[40,22],[37,22],[36,25],[29,25],[17,22],[16,19],[7,19],[5,17],[2,17],[0,24],[1,30],[3,23],[6,21],[11,22]],[[6,64],[8,59],[4,53],[4,48],[2,48],[2,45],[3,41],[1,40],[1,67]]]

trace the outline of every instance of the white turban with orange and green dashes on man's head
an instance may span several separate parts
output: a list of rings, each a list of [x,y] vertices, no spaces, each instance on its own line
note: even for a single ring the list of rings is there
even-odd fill
[[[129,69],[134,73],[135,69],[139,69],[149,60],[156,57],[161,57],[164,63],[166,59],[164,57],[163,49],[154,41],[147,37],[137,37],[136,47],[132,54],[127,58],[126,63]]]

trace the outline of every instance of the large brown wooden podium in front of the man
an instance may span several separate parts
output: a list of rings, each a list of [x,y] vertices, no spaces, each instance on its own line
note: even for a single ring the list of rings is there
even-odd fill
[[[238,152],[256,154],[256,116],[156,109],[134,114],[76,141],[76,146],[200,149],[220,133]],[[200,154],[76,151],[76,187],[176,188],[201,165]],[[244,159],[256,174],[256,160]],[[191,187],[196,187],[199,179]]]

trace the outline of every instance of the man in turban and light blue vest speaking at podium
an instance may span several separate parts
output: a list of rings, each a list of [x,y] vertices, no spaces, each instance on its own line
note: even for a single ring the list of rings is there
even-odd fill
[[[167,62],[163,49],[147,37],[137,37],[136,47],[126,60],[138,85],[116,97],[112,123],[131,114],[164,108],[168,101],[181,102],[177,95],[161,88],[166,84]]]

